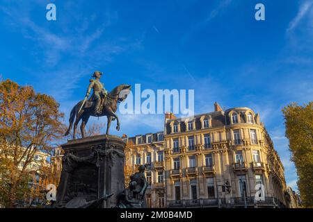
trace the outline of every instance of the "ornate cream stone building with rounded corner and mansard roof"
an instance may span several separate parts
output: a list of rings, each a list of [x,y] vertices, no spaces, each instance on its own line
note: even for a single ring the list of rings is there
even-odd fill
[[[166,207],[289,206],[284,167],[250,108],[224,111],[215,103],[214,112],[194,117],[168,113],[158,135],[126,139],[133,144],[129,164],[150,164],[150,207],[160,194]]]

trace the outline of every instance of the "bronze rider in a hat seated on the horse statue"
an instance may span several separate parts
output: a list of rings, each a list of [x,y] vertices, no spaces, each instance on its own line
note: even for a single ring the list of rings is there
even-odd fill
[[[102,76],[101,71],[95,71],[93,76],[95,79],[90,79],[90,84],[87,90],[86,96],[90,96],[91,89],[93,89],[93,96],[91,96],[90,101],[96,101],[95,103],[95,114],[100,115],[102,110],[100,109],[100,105],[102,104],[102,99],[105,99],[108,92],[104,89],[104,84],[100,82],[100,78]]]

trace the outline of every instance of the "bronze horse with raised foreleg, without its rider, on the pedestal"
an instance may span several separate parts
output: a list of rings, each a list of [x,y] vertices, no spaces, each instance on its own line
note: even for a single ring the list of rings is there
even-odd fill
[[[118,103],[122,102],[126,99],[127,94],[130,92],[131,85],[119,85],[118,87],[115,87],[109,94],[106,96],[105,103],[102,104],[102,113],[98,115],[95,115],[95,108],[94,108],[94,102],[93,101],[86,101],[86,103],[83,105],[83,108],[79,112],[79,109],[81,108],[81,105],[83,104],[83,101],[79,101],[74,108],[72,108],[71,114],[70,114],[70,126],[68,127],[65,136],[70,134],[70,130],[72,129],[75,117],[75,123],[74,123],[74,132],[73,132],[73,139],[75,138],[77,125],[79,121],[81,122],[81,136],[85,137],[85,126],[88,122],[88,119],[90,116],[93,117],[104,117],[106,116],[108,119],[108,123],[106,126],[106,135],[109,134],[109,128],[111,125],[111,121],[115,120],[117,121],[116,130],[120,130],[120,121],[118,119],[118,116],[115,114],[116,110],[118,109]],[[121,92],[124,92],[124,96],[120,97],[122,95]],[[125,93],[126,92],[126,93]],[[114,118],[114,119],[113,119]]]

